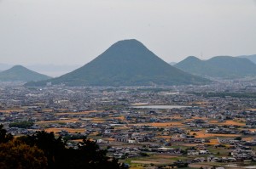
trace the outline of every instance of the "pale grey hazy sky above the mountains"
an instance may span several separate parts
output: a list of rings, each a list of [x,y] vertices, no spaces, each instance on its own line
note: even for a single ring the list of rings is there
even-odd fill
[[[0,63],[84,65],[131,38],[167,62],[256,54],[256,2],[0,0]]]

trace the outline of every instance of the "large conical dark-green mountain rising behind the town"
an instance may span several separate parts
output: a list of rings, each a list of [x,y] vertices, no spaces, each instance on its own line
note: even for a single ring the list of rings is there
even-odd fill
[[[192,76],[157,57],[137,40],[114,43],[90,63],[66,75],[27,86],[66,84],[68,86],[149,86],[204,84],[207,79]]]

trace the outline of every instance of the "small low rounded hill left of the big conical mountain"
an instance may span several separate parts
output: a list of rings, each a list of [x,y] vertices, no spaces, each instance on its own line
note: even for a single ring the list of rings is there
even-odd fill
[[[31,82],[31,81],[43,81],[51,77],[39,74],[35,71],[28,70],[22,65],[15,65],[9,70],[4,70],[0,72],[0,81],[1,82]]]

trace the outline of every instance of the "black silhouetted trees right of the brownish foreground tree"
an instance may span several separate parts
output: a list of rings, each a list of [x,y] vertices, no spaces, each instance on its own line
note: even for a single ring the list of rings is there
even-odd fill
[[[55,138],[54,132],[36,132],[32,136],[22,138],[30,146],[37,146],[44,151],[48,160],[48,168],[86,168],[86,169],[125,169],[118,160],[107,156],[107,150],[100,149],[96,142],[84,138],[78,149],[67,148],[61,137]]]

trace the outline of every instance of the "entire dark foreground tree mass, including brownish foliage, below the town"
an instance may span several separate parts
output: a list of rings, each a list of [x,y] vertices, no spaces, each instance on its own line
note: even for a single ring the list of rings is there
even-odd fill
[[[86,168],[125,169],[107,150],[84,138],[77,149],[67,148],[66,141],[53,132],[36,132],[32,136],[13,138],[0,126],[0,168]]]

